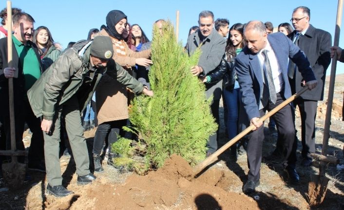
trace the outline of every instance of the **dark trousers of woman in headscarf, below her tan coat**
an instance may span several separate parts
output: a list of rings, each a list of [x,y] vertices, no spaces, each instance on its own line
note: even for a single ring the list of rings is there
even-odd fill
[[[98,125],[95,140],[93,142],[92,153],[100,155],[101,149],[103,147],[104,141],[108,138],[109,141],[109,151],[111,151],[111,146],[118,140],[117,135],[124,136],[123,126],[127,125],[127,119],[115,120],[111,122],[104,122]]]

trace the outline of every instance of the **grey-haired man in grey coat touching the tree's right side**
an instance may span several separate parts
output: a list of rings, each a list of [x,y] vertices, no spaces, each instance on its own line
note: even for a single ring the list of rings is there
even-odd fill
[[[192,33],[186,45],[186,50],[191,55],[197,47],[201,48],[202,54],[199,57],[198,65],[191,69],[194,76],[204,77],[213,71],[225,54],[226,40],[213,29],[214,14],[210,11],[202,11],[198,16],[199,30]],[[207,99],[212,95],[210,105],[211,114],[219,124],[219,104],[222,93],[222,80],[213,84],[206,84]],[[217,134],[210,136],[207,143],[207,156],[217,150]]]

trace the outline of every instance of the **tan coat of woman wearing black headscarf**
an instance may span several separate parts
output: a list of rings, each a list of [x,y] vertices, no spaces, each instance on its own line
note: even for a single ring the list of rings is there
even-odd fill
[[[100,31],[100,36],[110,37],[105,30]],[[113,40],[115,52],[113,56],[114,60],[124,69],[129,70],[129,72],[131,67],[135,65],[135,58],[148,58],[151,56],[150,50],[139,53],[132,51],[124,41],[126,55],[118,55],[116,54],[114,44],[114,41],[117,39],[113,37],[110,38]],[[128,119],[128,98],[126,87],[110,76],[103,76],[96,88],[96,108],[98,124]]]

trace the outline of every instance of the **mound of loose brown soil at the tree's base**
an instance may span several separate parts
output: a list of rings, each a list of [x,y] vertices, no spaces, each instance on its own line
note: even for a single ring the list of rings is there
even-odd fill
[[[245,194],[215,186],[226,182],[220,170],[211,168],[197,179],[191,179],[191,174],[189,164],[172,155],[163,168],[148,175],[133,174],[124,184],[111,184],[100,178],[91,185],[78,187],[78,194],[62,199],[47,197],[45,206],[52,210],[259,209],[256,201]]]

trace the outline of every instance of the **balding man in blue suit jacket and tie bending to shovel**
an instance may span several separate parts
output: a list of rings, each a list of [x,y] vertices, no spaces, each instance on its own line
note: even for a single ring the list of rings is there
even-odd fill
[[[243,186],[245,193],[255,191],[259,185],[264,126],[258,122],[268,110],[272,110],[291,96],[287,76],[288,58],[299,67],[308,89],[317,85],[306,56],[282,33],[267,35],[261,21],[250,21],[245,26],[247,46],[236,57],[235,70],[242,88],[242,102],[250,120],[256,126],[248,137],[248,181]],[[295,171],[296,144],[292,106],[287,105],[273,115],[279,136],[283,139],[282,164],[292,181],[299,181]]]

